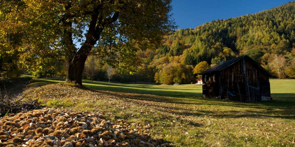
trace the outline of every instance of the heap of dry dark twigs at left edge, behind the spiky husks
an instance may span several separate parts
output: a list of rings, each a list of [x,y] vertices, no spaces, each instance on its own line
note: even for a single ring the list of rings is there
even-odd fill
[[[28,98],[25,95],[15,96],[12,98],[0,98],[0,117],[3,117],[8,113],[18,113],[23,110],[35,110],[44,108],[46,105],[42,106],[38,102],[39,98],[32,100],[31,98]]]

